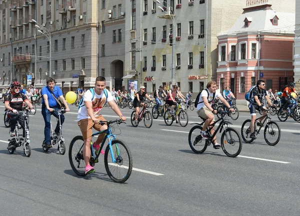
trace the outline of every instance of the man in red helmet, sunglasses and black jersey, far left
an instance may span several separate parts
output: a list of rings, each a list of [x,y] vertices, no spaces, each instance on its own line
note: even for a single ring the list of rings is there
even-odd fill
[[[4,105],[5,105],[5,109],[10,110],[10,112],[7,114],[8,118],[10,119],[9,135],[15,136],[14,128],[17,123],[17,120],[19,120],[19,123],[23,128],[23,137],[25,137],[26,136],[26,131],[24,129],[25,121],[24,118],[22,117],[22,114],[17,113],[17,111],[23,110],[23,102],[27,104],[31,112],[34,112],[34,109],[30,101],[27,99],[27,97],[24,94],[19,92],[20,88],[21,85],[19,82],[14,81],[12,83],[11,92],[7,95]],[[26,125],[26,127],[29,130],[28,125]]]

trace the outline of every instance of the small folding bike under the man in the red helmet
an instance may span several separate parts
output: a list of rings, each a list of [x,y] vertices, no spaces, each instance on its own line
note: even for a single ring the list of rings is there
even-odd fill
[[[8,152],[10,154],[13,154],[14,150],[22,146],[23,147],[23,153],[26,157],[30,157],[31,154],[31,147],[30,147],[30,139],[29,139],[29,129],[27,129],[28,119],[29,119],[29,110],[24,111],[18,111],[18,113],[22,114],[21,117],[24,118],[24,129],[25,129],[25,137],[22,137],[18,134],[18,124],[15,125],[14,133],[15,137],[12,139],[8,139],[9,143],[7,146]],[[17,120],[18,122],[19,120]]]

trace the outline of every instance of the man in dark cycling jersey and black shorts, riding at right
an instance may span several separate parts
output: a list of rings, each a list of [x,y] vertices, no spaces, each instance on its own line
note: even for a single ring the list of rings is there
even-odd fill
[[[269,106],[272,106],[272,102],[270,101],[269,97],[267,96],[267,93],[265,91],[265,83],[263,80],[258,80],[256,83],[256,86],[252,88],[249,94],[250,102],[249,102],[249,110],[250,110],[250,116],[251,116],[251,122],[250,122],[250,138],[256,139],[255,133],[254,133],[254,123],[256,120],[256,111],[257,110],[264,110],[265,106],[263,104],[264,98],[266,99],[266,102]],[[263,111],[263,116],[266,115],[266,112]],[[266,117],[266,116],[265,116]],[[265,118],[260,117],[260,121],[257,122],[258,126],[261,126],[261,121]]]

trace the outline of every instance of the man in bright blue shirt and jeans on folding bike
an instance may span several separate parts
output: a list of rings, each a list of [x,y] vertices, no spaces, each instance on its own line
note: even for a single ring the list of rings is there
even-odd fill
[[[58,118],[59,104],[56,100],[58,98],[62,101],[65,111],[68,112],[70,109],[66,101],[64,100],[61,89],[58,86],[55,86],[55,79],[49,77],[46,80],[47,86],[43,87],[41,90],[42,100],[41,100],[41,114],[45,122],[44,127],[44,140],[45,147],[50,148],[51,145],[51,136],[50,136],[50,124],[51,124],[51,115],[55,118]],[[60,115],[60,123],[63,124],[64,116]],[[57,121],[56,127],[54,129],[54,133],[59,136],[59,121]]]

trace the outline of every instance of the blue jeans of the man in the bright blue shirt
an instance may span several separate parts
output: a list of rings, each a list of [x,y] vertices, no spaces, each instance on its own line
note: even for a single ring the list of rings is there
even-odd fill
[[[45,128],[44,128],[44,137],[45,137],[45,144],[51,143],[51,134],[50,134],[50,124],[51,124],[51,115],[53,115],[55,118],[58,119],[58,111],[59,110],[57,107],[52,108],[54,111],[50,112],[47,110],[45,106],[41,107],[41,115],[44,118],[45,122]],[[60,115],[60,122],[61,125],[63,124],[64,121],[64,116],[61,114]],[[59,121],[57,121],[54,133],[59,133]]]

